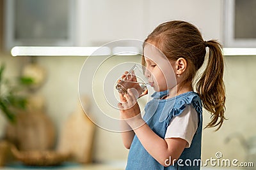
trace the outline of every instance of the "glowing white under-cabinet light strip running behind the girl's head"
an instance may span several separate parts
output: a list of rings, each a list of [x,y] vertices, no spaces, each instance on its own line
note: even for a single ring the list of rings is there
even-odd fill
[[[91,55],[138,55],[136,46],[15,46],[13,56],[91,56]],[[256,48],[223,48],[223,55],[256,55]]]

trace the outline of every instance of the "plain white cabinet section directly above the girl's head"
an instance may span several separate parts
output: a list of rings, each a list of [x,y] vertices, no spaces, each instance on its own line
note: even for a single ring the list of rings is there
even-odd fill
[[[222,0],[148,0],[145,32],[153,31],[157,25],[168,20],[186,20],[200,29],[205,40],[221,40],[222,3]]]

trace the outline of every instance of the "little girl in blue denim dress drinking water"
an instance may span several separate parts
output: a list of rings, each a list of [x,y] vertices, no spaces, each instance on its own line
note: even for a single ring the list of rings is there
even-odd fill
[[[204,63],[206,47],[207,66],[194,81]],[[132,129],[122,132],[124,145],[130,149],[126,169],[200,169],[202,106],[211,113],[206,127],[217,127],[217,131],[225,120],[220,43],[204,41],[188,22],[165,22],[145,40],[142,64],[156,92],[145,106],[143,118],[134,90],[120,94],[120,116]]]

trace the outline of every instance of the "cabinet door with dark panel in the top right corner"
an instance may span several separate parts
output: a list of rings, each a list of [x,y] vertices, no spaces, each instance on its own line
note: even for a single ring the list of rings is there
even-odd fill
[[[224,1],[225,47],[256,47],[255,8],[255,0]]]

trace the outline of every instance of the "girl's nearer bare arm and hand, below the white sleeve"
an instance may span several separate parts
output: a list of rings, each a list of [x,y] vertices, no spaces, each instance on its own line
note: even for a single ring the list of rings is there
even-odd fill
[[[181,138],[163,139],[152,131],[141,118],[140,107],[131,89],[128,89],[128,93],[124,95],[123,100],[127,102],[118,104],[121,117],[125,118],[127,124],[134,129],[133,131],[145,150],[163,166],[172,165],[173,161],[179,159],[187,142]]]

